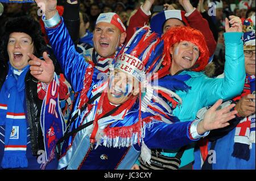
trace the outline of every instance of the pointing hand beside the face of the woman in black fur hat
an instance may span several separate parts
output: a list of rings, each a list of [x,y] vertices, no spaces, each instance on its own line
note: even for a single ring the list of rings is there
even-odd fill
[[[31,53],[28,54],[28,57],[31,58],[28,62],[28,64],[30,64],[31,75],[48,85],[53,80],[54,65],[51,58],[48,57],[47,52],[43,53],[45,61],[40,60]]]

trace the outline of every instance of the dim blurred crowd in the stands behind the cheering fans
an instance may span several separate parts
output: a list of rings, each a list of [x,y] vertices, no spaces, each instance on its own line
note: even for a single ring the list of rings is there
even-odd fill
[[[94,30],[94,25],[102,12],[116,12],[122,22],[127,27],[129,25],[129,19],[135,12],[142,6],[144,1],[138,0],[124,0],[124,1],[80,1],[80,37],[84,36],[85,32],[88,32],[92,37]],[[216,16],[209,16],[211,6],[210,2],[216,3]],[[239,1],[239,0],[224,0],[224,1],[191,1],[193,7],[197,7],[197,10],[201,12],[203,17],[208,20],[210,30],[213,33],[214,39],[217,42],[216,51],[214,52],[213,62],[214,69],[212,73],[209,73],[210,77],[214,77],[223,73],[224,63],[225,63],[225,48],[224,48],[224,24],[225,18],[230,15],[236,15],[240,18],[248,18],[255,12],[255,1]],[[63,4],[64,1],[58,1],[59,11],[63,13]],[[180,6],[177,0],[156,0],[152,6],[151,12],[152,16],[155,13],[166,10],[163,5],[171,5],[172,9],[183,10],[183,7]],[[201,5],[201,6],[200,6]],[[203,5],[203,6],[202,6]],[[35,3],[6,3],[3,4],[4,12],[0,16],[0,24],[4,24],[7,19],[22,15],[30,15],[34,19],[40,21],[41,16],[40,11]],[[43,25],[43,23],[41,22]],[[81,26],[84,24],[84,26]],[[82,28],[83,27],[83,28]],[[0,27],[0,35],[2,32],[3,26]],[[92,41],[90,41],[89,46],[86,48],[93,47]]]

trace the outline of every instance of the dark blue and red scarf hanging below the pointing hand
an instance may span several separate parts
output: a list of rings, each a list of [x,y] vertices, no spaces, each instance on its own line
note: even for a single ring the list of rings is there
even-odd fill
[[[59,106],[59,89],[60,82],[55,74],[53,81],[47,87],[40,115],[47,161],[42,165],[42,169],[55,157],[56,142],[64,136],[66,131],[66,124]]]

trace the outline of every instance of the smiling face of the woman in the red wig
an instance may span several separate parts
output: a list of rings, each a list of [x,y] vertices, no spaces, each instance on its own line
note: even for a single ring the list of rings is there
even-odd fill
[[[190,69],[195,65],[199,58],[199,47],[189,41],[180,41],[170,48],[172,65],[170,73],[176,74],[177,71]]]

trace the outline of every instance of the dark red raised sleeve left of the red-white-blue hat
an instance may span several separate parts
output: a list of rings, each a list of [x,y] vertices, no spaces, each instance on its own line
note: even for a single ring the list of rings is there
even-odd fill
[[[128,42],[136,31],[137,27],[143,27],[144,24],[148,23],[150,19],[150,15],[147,15],[143,12],[142,7],[138,9],[138,11],[131,16],[129,26],[127,27],[126,33],[126,42]]]

